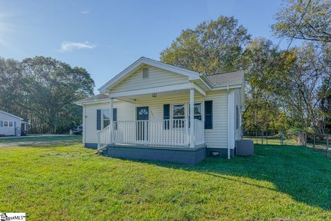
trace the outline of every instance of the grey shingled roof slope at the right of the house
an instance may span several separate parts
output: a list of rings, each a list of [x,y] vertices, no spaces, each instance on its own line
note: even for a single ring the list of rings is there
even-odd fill
[[[205,77],[212,83],[213,87],[241,85],[244,81],[243,70],[205,75]]]

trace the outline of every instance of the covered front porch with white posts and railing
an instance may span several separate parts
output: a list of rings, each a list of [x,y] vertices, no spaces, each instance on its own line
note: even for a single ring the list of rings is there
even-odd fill
[[[195,93],[199,96],[198,103],[194,99]],[[169,97],[176,95],[188,99],[181,99],[185,101],[183,103],[172,102]],[[205,97],[205,93],[196,84],[110,93],[109,97],[109,125],[103,126],[104,128],[98,133],[99,149],[109,145],[124,144],[172,148],[196,148],[205,144],[202,98]],[[159,97],[165,101],[162,104],[163,116],[160,116],[159,111],[155,109],[152,111],[148,106],[152,100],[157,102],[156,99]],[[114,99],[131,103],[135,110],[135,120],[114,120]]]

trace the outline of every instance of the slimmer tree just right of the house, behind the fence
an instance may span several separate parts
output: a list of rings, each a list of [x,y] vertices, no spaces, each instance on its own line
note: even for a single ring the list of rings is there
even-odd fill
[[[288,119],[281,109],[278,94],[283,90],[285,61],[281,51],[264,38],[253,39],[243,52],[245,70],[245,112],[243,126],[246,131],[283,131]]]

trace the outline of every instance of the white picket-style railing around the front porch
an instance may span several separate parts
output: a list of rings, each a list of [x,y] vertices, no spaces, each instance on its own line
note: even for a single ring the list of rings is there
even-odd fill
[[[188,119],[164,119],[113,122],[114,144],[188,147],[190,125]],[[98,148],[110,144],[110,126],[99,132]],[[204,122],[194,119],[194,143],[204,144]]]

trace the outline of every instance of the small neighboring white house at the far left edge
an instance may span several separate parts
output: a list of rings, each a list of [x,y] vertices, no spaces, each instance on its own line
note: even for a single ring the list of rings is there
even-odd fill
[[[0,111],[0,136],[21,136],[28,131],[28,123],[5,111]]]

